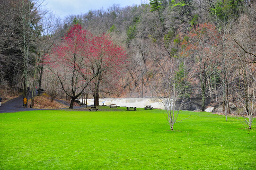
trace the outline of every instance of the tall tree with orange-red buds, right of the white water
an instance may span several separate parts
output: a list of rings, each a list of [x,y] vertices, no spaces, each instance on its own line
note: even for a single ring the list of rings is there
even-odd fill
[[[209,23],[199,24],[189,33],[187,51],[192,51],[195,60],[195,76],[200,80],[202,95],[202,111],[205,108],[206,92],[209,87],[208,79],[214,73],[212,67],[215,44],[219,41],[215,26]]]

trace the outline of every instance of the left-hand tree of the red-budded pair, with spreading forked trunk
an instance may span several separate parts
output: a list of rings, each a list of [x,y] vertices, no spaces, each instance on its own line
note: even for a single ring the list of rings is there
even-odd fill
[[[77,99],[88,87],[89,83],[97,77],[101,70],[90,72],[92,59],[92,34],[83,30],[80,25],[74,25],[55,46],[53,53],[45,59],[52,73],[57,76],[63,91],[71,98],[70,109]]]

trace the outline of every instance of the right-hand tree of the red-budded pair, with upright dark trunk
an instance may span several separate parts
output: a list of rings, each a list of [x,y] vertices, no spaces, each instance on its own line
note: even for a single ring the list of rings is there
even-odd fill
[[[94,105],[99,105],[100,84],[104,82],[114,85],[113,78],[117,78],[127,64],[127,55],[121,46],[113,43],[108,35],[95,36],[92,42],[91,72],[97,74],[92,82]]]

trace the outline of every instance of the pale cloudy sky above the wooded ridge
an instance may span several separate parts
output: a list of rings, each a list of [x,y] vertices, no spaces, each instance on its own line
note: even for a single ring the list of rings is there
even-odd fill
[[[97,10],[103,7],[104,10],[113,4],[120,4],[121,7],[140,5],[141,2],[148,3],[149,0],[45,0],[47,9],[55,12],[56,17],[62,19],[71,14],[84,14],[89,10]]]

